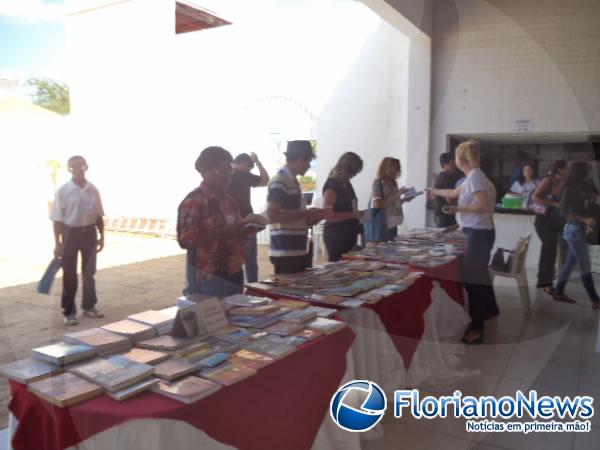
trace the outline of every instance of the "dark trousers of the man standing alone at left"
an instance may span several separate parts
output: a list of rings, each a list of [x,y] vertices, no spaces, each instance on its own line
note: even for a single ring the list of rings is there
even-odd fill
[[[77,256],[81,252],[81,280],[83,299],[81,307],[92,309],[98,301],[96,297],[96,227],[69,228],[63,253],[63,293],[62,309],[65,316],[77,313],[75,294],[77,293]]]

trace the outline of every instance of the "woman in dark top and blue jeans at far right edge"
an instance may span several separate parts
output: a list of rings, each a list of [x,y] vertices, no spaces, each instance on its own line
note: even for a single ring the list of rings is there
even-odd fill
[[[589,175],[590,168],[587,163],[577,161],[571,164],[566,186],[560,200],[560,213],[567,221],[563,230],[563,238],[569,245],[569,253],[551,295],[555,300],[575,303],[573,299],[565,295],[564,291],[573,266],[577,263],[583,287],[592,302],[592,306],[595,309],[600,309],[600,297],[598,297],[594,287],[586,241],[588,230],[596,224],[596,218],[593,217],[595,215],[593,205],[598,195],[598,189],[589,178]]]

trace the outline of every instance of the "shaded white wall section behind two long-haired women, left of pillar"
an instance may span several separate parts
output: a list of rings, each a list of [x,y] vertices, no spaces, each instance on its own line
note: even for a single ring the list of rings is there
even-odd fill
[[[406,161],[408,39],[381,21],[318,120],[318,191],[339,156],[354,151],[363,171],[353,180],[366,208],[381,159]],[[404,164],[403,164],[404,165]],[[404,167],[406,167],[404,165]],[[400,183],[406,184],[406,170]]]

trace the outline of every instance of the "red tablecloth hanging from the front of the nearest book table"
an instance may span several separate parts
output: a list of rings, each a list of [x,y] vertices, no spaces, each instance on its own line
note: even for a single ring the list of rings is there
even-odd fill
[[[311,447],[346,371],[349,328],[305,344],[256,376],[186,405],[151,392],[124,402],[107,395],[57,408],[11,381],[9,409],[19,420],[15,450],[65,449],[131,419],[189,423],[239,449]]]

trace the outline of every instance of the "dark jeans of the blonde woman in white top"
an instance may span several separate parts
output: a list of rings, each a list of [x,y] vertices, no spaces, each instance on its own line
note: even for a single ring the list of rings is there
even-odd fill
[[[469,328],[483,330],[483,323],[499,313],[488,269],[496,231],[473,228],[463,228],[463,231],[467,237],[463,256],[463,280],[469,296]]]

